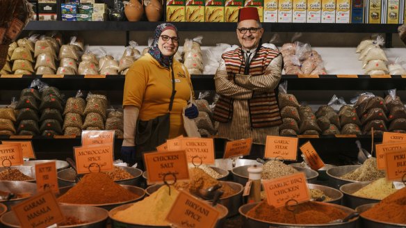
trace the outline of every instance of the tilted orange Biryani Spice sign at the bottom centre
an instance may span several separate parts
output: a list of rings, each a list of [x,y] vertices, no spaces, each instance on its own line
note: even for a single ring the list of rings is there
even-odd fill
[[[177,227],[211,228],[216,225],[219,215],[210,204],[179,190],[166,220]]]

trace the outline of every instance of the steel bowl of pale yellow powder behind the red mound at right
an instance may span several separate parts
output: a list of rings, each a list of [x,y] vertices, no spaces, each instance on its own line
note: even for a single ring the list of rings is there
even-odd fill
[[[371,184],[373,181],[361,181],[361,182],[353,182],[344,184],[340,187],[342,193],[344,193],[343,197],[343,205],[348,206],[352,209],[355,209],[357,206],[361,206],[364,204],[372,204],[380,202],[380,199],[371,199],[366,197],[359,197],[352,195],[357,190],[364,188],[368,184]]]

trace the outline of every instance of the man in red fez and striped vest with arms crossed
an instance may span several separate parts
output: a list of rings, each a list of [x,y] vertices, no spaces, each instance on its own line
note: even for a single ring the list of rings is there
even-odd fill
[[[222,54],[214,77],[220,95],[214,119],[218,135],[227,140],[252,138],[250,157],[263,157],[266,136],[277,136],[282,118],[276,90],[282,74],[282,55],[261,43],[263,28],[257,8],[238,12],[241,47]]]

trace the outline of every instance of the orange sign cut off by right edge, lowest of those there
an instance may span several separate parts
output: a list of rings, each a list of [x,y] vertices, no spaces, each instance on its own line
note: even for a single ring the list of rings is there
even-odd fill
[[[390,181],[402,181],[402,177],[406,174],[406,150],[389,152],[385,156],[387,179]]]

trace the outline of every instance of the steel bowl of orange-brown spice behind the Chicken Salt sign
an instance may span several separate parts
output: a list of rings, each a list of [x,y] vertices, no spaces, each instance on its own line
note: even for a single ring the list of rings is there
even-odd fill
[[[238,214],[238,207],[243,204],[243,189],[244,187],[241,184],[230,182],[230,181],[220,181],[222,184],[228,184],[236,193],[234,195],[230,195],[228,197],[220,198],[219,204],[224,205],[227,207],[229,213],[227,217],[234,216]],[[155,184],[153,186],[149,186],[145,188],[145,192],[147,195],[151,195],[152,193],[156,192],[159,188],[161,188],[162,184]]]

